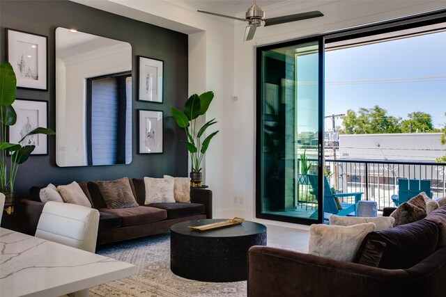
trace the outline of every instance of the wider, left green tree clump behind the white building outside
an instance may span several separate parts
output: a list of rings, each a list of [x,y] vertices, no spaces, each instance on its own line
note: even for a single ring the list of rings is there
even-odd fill
[[[401,133],[401,118],[387,115],[387,110],[378,105],[371,109],[360,107],[357,113],[348,109],[341,119],[344,128],[340,132],[343,134]]]

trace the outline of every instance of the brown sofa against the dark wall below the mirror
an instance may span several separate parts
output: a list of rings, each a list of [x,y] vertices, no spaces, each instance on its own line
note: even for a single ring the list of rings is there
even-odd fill
[[[97,245],[168,232],[171,225],[185,220],[212,218],[212,191],[190,189],[191,203],[153,203],[144,205],[146,190],[144,179],[130,179],[130,187],[139,206],[123,209],[107,209],[98,184],[79,182],[92,207],[100,212]],[[33,235],[36,232],[43,203],[40,202],[42,186],[30,189],[29,199],[20,202],[20,228]]]

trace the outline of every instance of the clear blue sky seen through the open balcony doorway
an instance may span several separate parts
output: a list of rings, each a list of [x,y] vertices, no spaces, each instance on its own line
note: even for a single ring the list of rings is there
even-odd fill
[[[434,127],[443,127],[446,32],[325,52],[325,115],[375,105],[403,119],[429,113]],[[331,129],[331,119],[325,127]]]

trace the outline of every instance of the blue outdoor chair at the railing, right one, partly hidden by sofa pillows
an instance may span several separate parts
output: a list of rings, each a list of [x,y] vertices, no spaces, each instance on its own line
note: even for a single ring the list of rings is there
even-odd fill
[[[431,181],[427,179],[398,179],[398,195],[392,195],[394,204],[398,207],[403,202],[408,202],[421,192],[431,197]]]

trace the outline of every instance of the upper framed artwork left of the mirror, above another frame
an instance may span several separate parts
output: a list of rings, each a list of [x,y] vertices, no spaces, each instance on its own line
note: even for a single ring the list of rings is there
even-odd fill
[[[48,90],[48,38],[12,29],[6,29],[6,35],[8,62],[17,77],[17,88]]]

